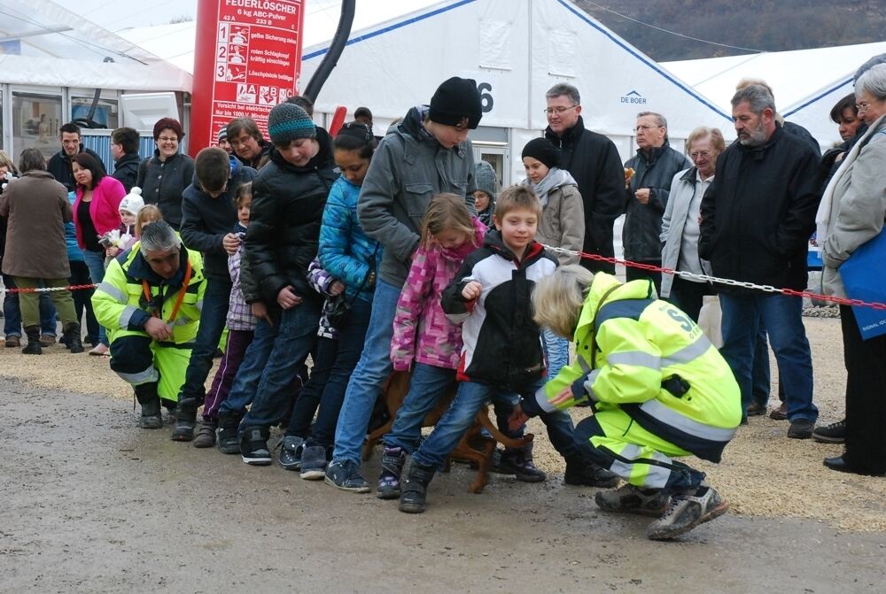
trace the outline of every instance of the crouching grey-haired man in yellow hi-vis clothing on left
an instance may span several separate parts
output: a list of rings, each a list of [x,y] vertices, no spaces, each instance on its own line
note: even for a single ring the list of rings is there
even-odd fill
[[[114,258],[92,307],[111,340],[111,369],[142,405],[139,427],[163,427],[160,399],[175,408],[200,320],[206,278],[199,252],[166,222],[147,225],[140,242]]]

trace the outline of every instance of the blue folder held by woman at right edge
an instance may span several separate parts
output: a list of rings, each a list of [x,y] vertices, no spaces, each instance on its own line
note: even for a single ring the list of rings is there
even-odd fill
[[[840,266],[846,295],[867,302],[886,303],[886,230],[859,246]],[[886,334],[886,310],[852,305],[861,338]]]

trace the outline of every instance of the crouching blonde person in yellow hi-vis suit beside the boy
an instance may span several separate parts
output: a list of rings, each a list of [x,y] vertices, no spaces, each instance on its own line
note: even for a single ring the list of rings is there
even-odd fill
[[[657,517],[653,540],[725,513],[704,473],[673,459],[719,462],[742,420],[732,371],[696,323],[648,281],[621,284],[581,266],[540,280],[532,303],[541,327],[575,341],[576,362],[517,406],[512,423],[590,399],[594,416],[575,428],[579,451],[627,481],[596,504]]]

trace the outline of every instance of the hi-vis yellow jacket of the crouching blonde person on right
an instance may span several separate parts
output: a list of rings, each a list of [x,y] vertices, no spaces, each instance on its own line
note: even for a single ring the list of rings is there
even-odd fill
[[[576,361],[525,402],[527,414],[592,399],[699,458],[719,462],[742,420],[732,370],[701,328],[648,281],[595,274],[575,331]]]

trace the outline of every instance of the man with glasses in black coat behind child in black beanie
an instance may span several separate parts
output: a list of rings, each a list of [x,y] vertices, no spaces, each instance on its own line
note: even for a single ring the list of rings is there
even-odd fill
[[[618,150],[606,136],[585,129],[579,89],[556,84],[545,98],[545,137],[560,148],[560,168],[575,179],[585,207],[582,251],[612,258],[612,227],[621,214],[625,191]],[[581,265],[592,272],[615,274],[615,265],[609,262],[582,259]]]

